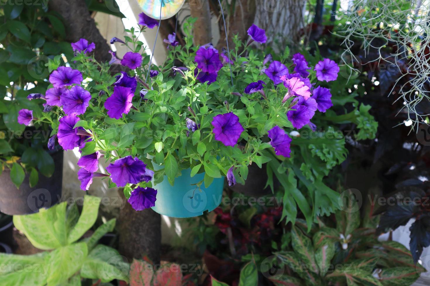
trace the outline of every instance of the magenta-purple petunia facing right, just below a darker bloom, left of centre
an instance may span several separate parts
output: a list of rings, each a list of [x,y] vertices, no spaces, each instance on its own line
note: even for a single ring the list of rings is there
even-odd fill
[[[134,93],[129,87],[114,87],[114,93],[104,102],[107,115],[111,118],[120,119],[123,113],[127,114],[132,108]]]

